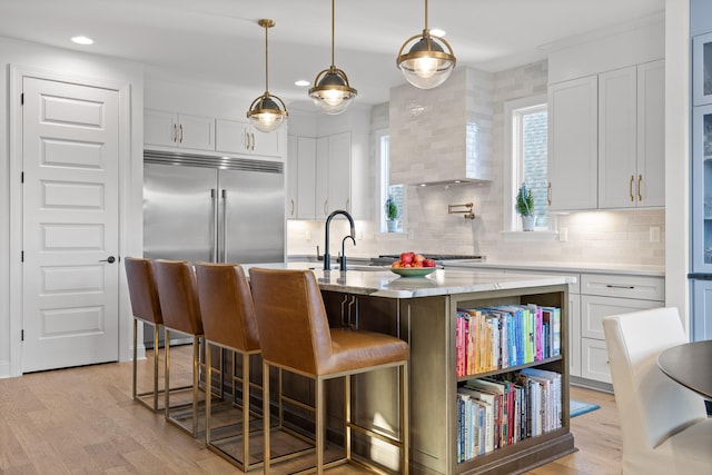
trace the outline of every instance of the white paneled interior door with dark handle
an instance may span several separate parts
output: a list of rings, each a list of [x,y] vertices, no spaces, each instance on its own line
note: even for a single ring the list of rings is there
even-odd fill
[[[22,372],[117,360],[119,93],[22,89]]]

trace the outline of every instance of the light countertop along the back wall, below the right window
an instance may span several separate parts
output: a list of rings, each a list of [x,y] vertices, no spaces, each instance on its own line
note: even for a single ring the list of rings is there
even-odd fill
[[[482,263],[451,260],[445,264],[447,268],[461,269],[510,269],[546,273],[581,273],[581,274],[613,274],[629,276],[664,277],[665,266],[645,266],[632,264],[610,263],[545,263],[545,261],[490,261]]]

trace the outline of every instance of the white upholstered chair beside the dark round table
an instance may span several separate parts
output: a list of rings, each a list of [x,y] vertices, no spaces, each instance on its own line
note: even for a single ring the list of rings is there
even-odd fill
[[[603,329],[623,434],[622,473],[710,473],[712,418],[704,400],[657,367],[663,349],[688,342],[678,310],[609,316]]]

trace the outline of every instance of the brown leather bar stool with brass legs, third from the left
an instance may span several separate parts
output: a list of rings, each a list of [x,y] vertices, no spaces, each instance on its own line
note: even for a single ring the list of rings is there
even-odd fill
[[[233,364],[235,364],[237,355],[240,355],[243,365],[240,377],[235,376],[235,366],[231,372],[233,400],[235,400],[235,382],[241,383],[241,431],[214,441],[210,425],[212,404],[208,397],[205,408],[205,442],[209,449],[238,466],[243,472],[247,472],[261,465],[261,461],[250,463],[249,447],[249,402],[250,386],[253,386],[249,377],[249,362],[250,355],[259,354],[259,336],[253,296],[245,270],[237,264],[198,263],[196,264],[196,277],[206,342],[206,394],[211,394],[212,390],[210,345],[233,352]],[[222,390],[221,387],[220,393]],[[229,451],[229,443],[239,438],[243,443],[241,459],[237,451]]]

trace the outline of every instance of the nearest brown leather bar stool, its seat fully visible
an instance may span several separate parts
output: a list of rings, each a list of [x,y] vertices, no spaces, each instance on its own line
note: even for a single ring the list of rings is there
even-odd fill
[[[352,429],[400,449],[399,473],[408,473],[408,345],[399,338],[350,328],[329,328],[324,300],[310,270],[249,270],[263,349],[265,473],[269,473],[269,367],[294,372],[316,384],[316,472],[352,458]],[[350,376],[398,367],[400,439],[385,436],[350,420]],[[344,377],[346,456],[324,464],[325,380]]]

